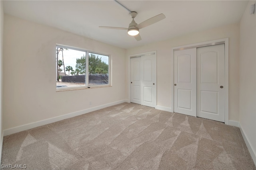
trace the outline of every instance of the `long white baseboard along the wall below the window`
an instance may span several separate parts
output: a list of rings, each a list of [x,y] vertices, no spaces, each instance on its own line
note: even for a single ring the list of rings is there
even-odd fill
[[[124,103],[124,102],[128,102],[128,100],[120,100],[120,101],[117,101],[117,102],[104,104],[104,105],[101,105],[101,106],[96,106],[96,107],[92,107],[92,108],[89,108],[89,109],[76,111],[76,112],[73,112],[73,113],[68,113],[66,115],[52,117],[50,119],[44,119],[42,121],[36,121],[36,122],[33,122],[33,123],[28,123],[26,125],[21,125],[21,126],[13,127],[13,128],[10,128],[10,129],[5,129],[4,130],[4,136],[11,135],[11,134],[14,134],[14,133],[18,133],[18,132],[21,132],[21,131],[26,131],[28,129],[39,127],[39,126],[42,126],[42,125],[47,125],[49,123],[54,123],[56,121],[61,121],[61,120],[68,119],[68,118],[71,118],[71,117],[83,115],[85,113],[96,111],[98,109],[103,109],[105,107],[114,106],[114,105],[121,104],[121,103]]]

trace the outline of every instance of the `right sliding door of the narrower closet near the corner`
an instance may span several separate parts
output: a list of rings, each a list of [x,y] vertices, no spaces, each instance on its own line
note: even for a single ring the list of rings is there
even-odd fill
[[[141,104],[156,107],[156,54],[141,57]]]

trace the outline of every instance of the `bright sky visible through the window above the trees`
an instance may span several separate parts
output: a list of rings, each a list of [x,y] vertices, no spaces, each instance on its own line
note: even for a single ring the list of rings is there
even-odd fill
[[[73,50],[73,49],[68,49],[68,50],[64,49],[63,58],[64,58],[65,68],[66,68],[66,66],[72,66],[73,70],[75,70],[76,69],[76,59],[81,58],[83,55],[86,55],[86,52]],[[96,54],[96,56],[97,55],[98,54]],[[105,56],[105,55],[98,55],[98,56],[101,57],[101,61],[108,64],[108,56]],[[58,55],[58,60],[62,60],[62,51],[60,51],[60,53]],[[63,69],[62,72],[64,72],[63,65],[60,68],[62,68]],[[66,71],[66,74],[68,74],[67,71]]]

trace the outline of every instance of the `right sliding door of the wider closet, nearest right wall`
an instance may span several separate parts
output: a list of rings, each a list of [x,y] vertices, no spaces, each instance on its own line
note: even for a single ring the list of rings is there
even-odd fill
[[[224,44],[197,49],[197,116],[224,122]]]

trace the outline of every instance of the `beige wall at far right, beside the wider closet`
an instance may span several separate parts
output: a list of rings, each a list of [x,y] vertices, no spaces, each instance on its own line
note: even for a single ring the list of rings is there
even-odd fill
[[[240,21],[240,126],[256,153],[256,14],[249,1]],[[256,160],[254,160],[256,161]]]

